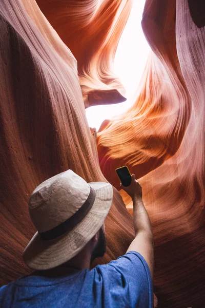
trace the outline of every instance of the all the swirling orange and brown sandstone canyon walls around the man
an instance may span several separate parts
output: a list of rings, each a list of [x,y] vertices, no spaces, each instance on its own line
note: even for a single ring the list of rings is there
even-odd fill
[[[37,4],[0,3],[1,283],[29,273],[22,262],[35,232],[29,195],[68,168],[115,187],[108,251],[99,262],[124,254],[133,225],[122,198],[131,214],[132,206],[117,192],[114,169],[126,164],[140,178],[153,225],[159,307],[203,307],[202,2],[147,0],[142,28],[152,51],[136,101],[97,136],[85,107],[125,100],[112,63],[131,1]]]

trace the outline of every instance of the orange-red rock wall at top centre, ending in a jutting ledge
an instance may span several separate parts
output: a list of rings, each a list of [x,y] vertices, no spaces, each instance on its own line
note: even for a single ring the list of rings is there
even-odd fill
[[[124,102],[112,65],[132,0],[36,2],[77,60],[85,106]]]

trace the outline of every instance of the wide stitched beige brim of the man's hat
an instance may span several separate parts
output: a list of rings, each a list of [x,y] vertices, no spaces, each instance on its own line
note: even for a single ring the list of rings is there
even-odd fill
[[[70,232],[54,240],[42,240],[36,232],[23,253],[30,268],[44,270],[65,263],[76,256],[101,228],[112,204],[112,185],[105,182],[88,184],[96,191],[89,213]]]

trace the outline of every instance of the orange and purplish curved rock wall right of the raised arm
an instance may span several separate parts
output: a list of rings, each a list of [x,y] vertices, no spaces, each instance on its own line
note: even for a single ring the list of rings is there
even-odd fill
[[[114,169],[122,165],[140,179],[160,307],[202,307],[205,29],[195,25],[186,0],[147,1],[142,27],[152,52],[133,106],[101,125],[100,167],[115,187]]]

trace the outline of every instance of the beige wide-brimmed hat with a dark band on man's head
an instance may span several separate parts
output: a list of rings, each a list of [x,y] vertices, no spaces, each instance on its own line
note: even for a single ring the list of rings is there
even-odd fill
[[[77,255],[103,225],[112,195],[111,184],[87,183],[72,170],[40,184],[29,200],[37,232],[25,248],[25,263],[43,270]]]

